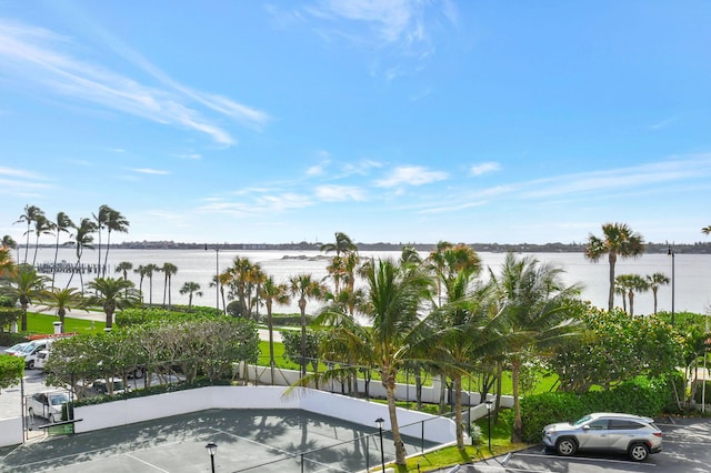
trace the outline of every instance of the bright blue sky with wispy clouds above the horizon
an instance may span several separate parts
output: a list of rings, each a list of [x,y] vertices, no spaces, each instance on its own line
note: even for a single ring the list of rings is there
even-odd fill
[[[108,204],[114,242],[708,241],[710,23],[708,1],[0,0],[0,232]]]

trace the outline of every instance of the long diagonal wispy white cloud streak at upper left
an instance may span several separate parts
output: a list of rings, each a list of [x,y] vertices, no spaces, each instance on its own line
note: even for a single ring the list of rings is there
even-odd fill
[[[169,89],[147,85],[100,64],[77,59],[66,51],[71,46],[69,39],[52,31],[0,20],[0,71],[20,81],[22,87],[30,84],[48,93],[196,130],[224,145],[236,143],[231,133],[191,102],[256,127],[268,121],[264,112],[179,84],[127,48],[118,49]]]

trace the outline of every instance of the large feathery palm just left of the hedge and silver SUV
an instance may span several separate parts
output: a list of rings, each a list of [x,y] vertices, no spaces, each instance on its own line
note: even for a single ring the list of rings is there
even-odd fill
[[[563,270],[540,264],[535,258],[507,254],[499,275],[489,270],[494,298],[504,318],[507,353],[511,366],[514,421],[511,442],[521,441],[519,375],[524,360],[577,336],[579,325],[568,316],[563,302],[580,293],[578,285],[565,286]]]

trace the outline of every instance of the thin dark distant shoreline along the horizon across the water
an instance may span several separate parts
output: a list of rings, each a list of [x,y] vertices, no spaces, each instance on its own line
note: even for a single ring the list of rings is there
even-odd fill
[[[458,242],[453,242],[458,243]],[[320,251],[324,243],[321,242],[299,242],[299,243],[182,243],[173,241],[131,241],[122,243],[111,243],[112,250],[249,250],[249,251]],[[582,253],[585,251],[584,243],[468,243],[474,251],[488,253]],[[413,246],[418,251],[431,251],[437,248],[437,243],[356,243],[359,251],[400,251],[404,246]],[[39,244],[39,248],[54,248],[53,244]],[[61,248],[72,248],[72,242],[64,243]],[[669,251],[668,243],[647,243],[645,253],[659,254]],[[18,245],[24,248],[24,245]],[[29,248],[34,249],[34,244]],[[673,244],[674,253],[678,254],[711,254],[711,241],[685,244]],[[106,249],[106,245],[102,246]]]

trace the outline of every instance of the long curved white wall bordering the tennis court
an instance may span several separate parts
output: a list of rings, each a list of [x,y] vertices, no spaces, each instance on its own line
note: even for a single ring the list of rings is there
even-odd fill
[[[373,426],[374,420],[382,417],[385,420],[383,429],[390,429],[388,406],[381,403],[304,389],[284,395],[284,389],[280,386],[209,386],[76,407],[74,419],[81,421],[74,424],[74,432],[208,409],[301,409],[367,426]],[[437,443],[455,440],[454,422],[449,419],[398,409],[398,423],[403,434],[418,439],[423,436]]]

